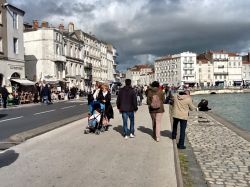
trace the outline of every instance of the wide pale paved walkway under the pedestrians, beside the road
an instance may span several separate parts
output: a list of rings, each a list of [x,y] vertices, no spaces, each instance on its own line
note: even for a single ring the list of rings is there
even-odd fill
[[[160,142],[151,137],[151,118],[143,105],[135,117],[136,138],[122,137],[122,118],[114,108],[108,132],[84,134],[85,118],[1,152],[1,187],[175,187],[167,107]]]

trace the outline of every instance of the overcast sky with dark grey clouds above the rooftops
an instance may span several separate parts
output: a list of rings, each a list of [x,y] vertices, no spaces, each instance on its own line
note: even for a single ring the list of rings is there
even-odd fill
[[[119,70],[183,51],[250,51],[250,0],[9,0],[25,21],[76,28],[112,43]]]

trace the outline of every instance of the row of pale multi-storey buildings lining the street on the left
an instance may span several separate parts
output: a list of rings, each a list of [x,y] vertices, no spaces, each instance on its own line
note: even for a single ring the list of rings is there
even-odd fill
[[[75,29],[48,22],[24,24],[25,12],[0,0],[0,86],[46,81],[88,90],[96,82],[119,79],[117,51],[112,44]]]

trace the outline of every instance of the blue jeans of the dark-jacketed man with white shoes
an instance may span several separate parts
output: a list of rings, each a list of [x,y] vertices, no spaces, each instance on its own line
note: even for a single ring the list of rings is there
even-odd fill
[[[128,118],[130,120],[130,133],[135,133],[135,115],[134,112],[122,112],[122,120],[123,120],[123,134],[124,136],[129,135],[128,130]]]

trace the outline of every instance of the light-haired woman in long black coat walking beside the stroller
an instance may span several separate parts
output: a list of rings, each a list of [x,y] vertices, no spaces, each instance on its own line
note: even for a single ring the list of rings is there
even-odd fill
[[[114,118],[113,107],[111,105],[111,93],[108,85],[103,84],[101,86],[101,90],[97,96],[97,101],[104,105],[104,116],[106,117],[104,120],[107,120],[105,123],[107,123],[106,130],[108,130],[108,123],[111,118]]]

